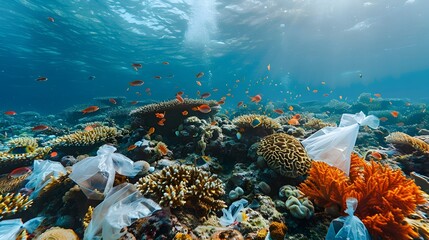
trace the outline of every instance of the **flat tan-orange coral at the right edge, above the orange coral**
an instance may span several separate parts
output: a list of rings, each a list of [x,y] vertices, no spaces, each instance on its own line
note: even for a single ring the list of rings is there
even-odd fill
[[[386,141],[407,153],[418,151],[429,154],[429,144],[402,132],[393,132],[389,134],[389,136],[386,137]]]

